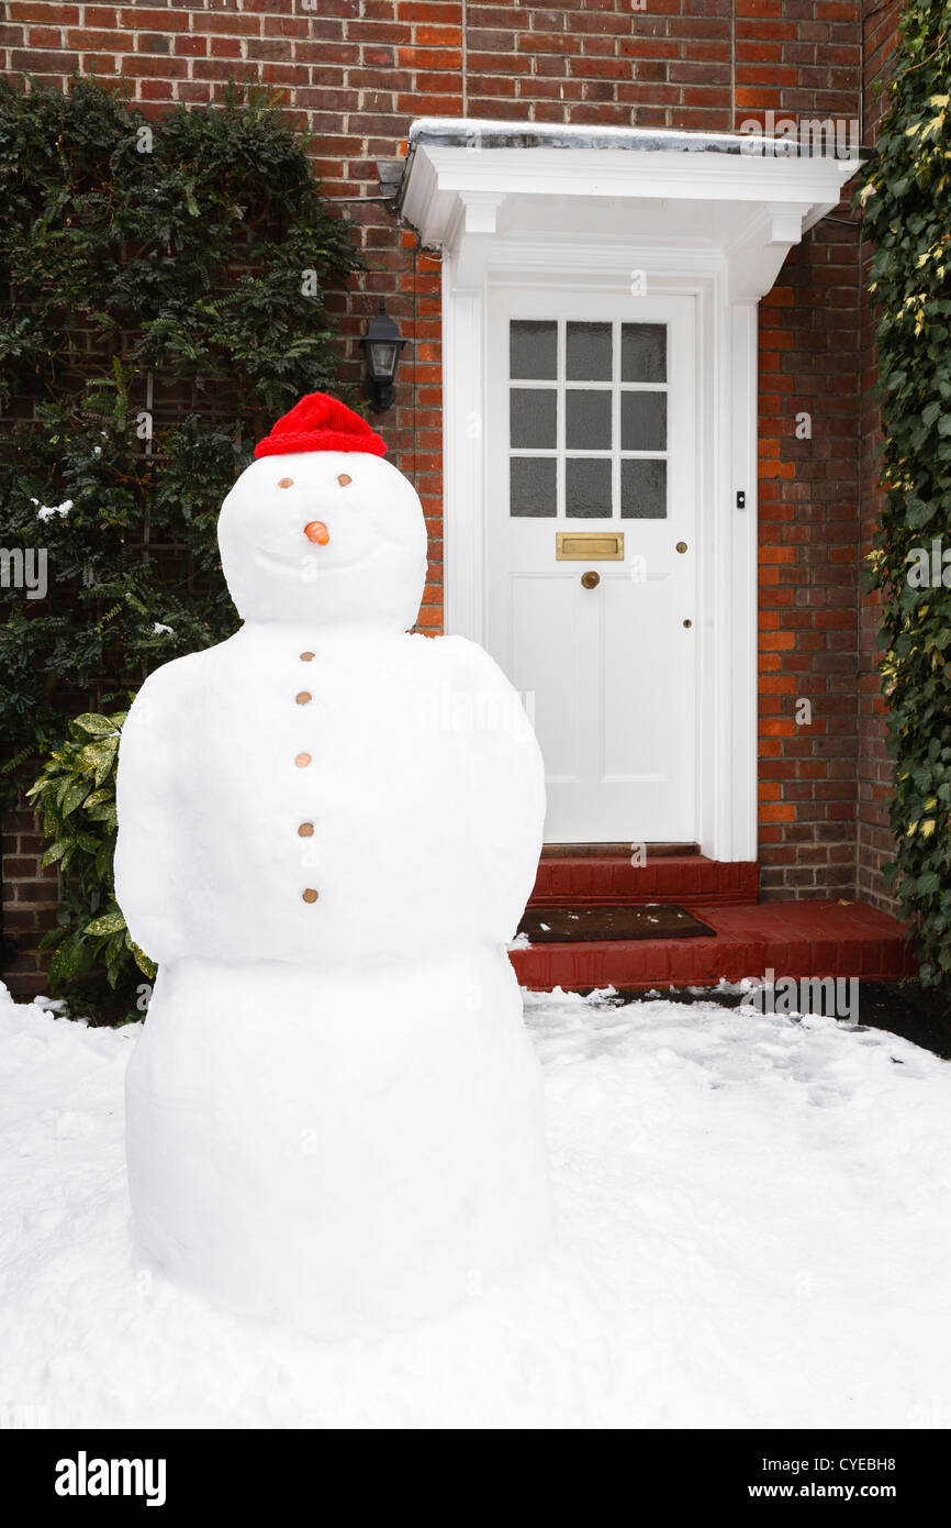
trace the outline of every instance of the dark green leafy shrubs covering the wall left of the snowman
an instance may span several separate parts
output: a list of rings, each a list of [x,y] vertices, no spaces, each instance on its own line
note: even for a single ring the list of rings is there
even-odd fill
[[[66,811],[99,747],[69,718],[114,721],[153,668],[237,628],[221,500],[279,414],[334,388],[327,293],[360,261],[263,92],[147,121],[93,81],[0,84],[0,545],[43,549],[49,584],[0,590],[0,808],[49,755],[53,981],[90,953],[118,979],[105,817],[79,827],[111,785]]]

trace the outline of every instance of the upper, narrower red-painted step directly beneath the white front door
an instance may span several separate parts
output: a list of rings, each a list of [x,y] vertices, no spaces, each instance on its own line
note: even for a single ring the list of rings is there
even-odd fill
[[[710,860],[704,854],[667,854],[632,865],[630,854],[542,857],[528,898],[533,908],[604,908],[647,902],[754,903],[756,860]]]

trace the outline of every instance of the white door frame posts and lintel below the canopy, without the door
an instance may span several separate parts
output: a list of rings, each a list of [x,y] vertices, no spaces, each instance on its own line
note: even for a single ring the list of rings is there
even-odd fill
[[[577,252],[575,252],[577,254]],[[630,272],[653,296],[691,296],[696,312],[698,446],[698,822],[696,842],[721,860],[756,859],[756,306],[728,309],[725,272],[676,270],[672,252],[637,249],[620,263],[604,251],[507,244],[478,293],[443,274],[446,630],[485,633],[484,365],[490,284],[531,290],[630,293]],[[499,251],[502,255],[502,251]],[[739,397],[737,397],[737,390]],[[730,400],[750,400],[730,410]],[[733,414],[733,429],[728,420]],[[461,428],[459,428],[461,426]],[[743,492],[746,507],[734,507]]]

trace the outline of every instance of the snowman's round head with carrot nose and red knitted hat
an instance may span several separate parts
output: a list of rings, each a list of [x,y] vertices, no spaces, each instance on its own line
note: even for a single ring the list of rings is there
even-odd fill
[[[412,626],[426,521],[385,449],[324,393],[278,420],[218,518],[224,578],[244,620]]]

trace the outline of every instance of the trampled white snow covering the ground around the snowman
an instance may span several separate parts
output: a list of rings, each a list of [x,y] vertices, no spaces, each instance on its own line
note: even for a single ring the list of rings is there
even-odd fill
[[[122,1074],[0,987],[0,1412],[50,1427],[946,1427],[951,1068],[698,1002],[527,996],[550,1256],[327,1346],[136,1273]],[[279,1044],[269,1036],[269,1044]]]

